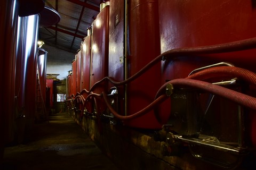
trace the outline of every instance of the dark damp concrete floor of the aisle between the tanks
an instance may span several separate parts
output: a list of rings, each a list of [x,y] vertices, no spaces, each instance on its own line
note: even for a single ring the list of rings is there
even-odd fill
[[[22,145],[5,148],[2,169],[118,169],[67,113],[36,124]]]

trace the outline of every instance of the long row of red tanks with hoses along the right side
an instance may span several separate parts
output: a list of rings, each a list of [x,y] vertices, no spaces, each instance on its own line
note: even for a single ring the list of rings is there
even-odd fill
[[[69,111],[155,130],[167,156],[186,143],[223,168],[255,159],[255,5],[107,1],[67,77]]]

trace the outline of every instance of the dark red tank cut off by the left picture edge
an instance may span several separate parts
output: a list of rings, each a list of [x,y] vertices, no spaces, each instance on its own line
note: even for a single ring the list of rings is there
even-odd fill
[[[0,107],[0,159],[2,160],[4,145],[13,140],[13,120],[14,120],[14,97],[15,97],[15,62],[16,62],[16,42],[18,27],[18,2],[0,2],[0,52],[1,52],[1,103]]]

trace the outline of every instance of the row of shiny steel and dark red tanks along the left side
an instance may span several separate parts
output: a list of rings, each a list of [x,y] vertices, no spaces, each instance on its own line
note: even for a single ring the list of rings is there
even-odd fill
[[[45,14],[54,16],[54,23],[60,16],[43,0],[1,1],[0,8],[2,162],[4,146],[23,142],[35,121],[47,120],[47,52],[37,44],[38,29],[51,24]]]

